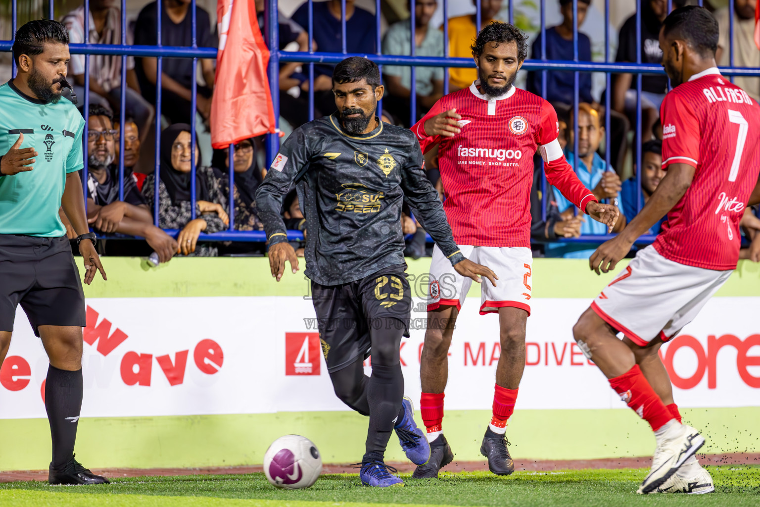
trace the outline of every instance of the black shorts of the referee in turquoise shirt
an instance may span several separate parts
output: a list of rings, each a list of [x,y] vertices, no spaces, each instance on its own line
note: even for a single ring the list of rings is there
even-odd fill
[[[82,283],[66,236],[0,234],[0,331],[13,331],[19,304],[38,337],[41,325],[87,325]]]

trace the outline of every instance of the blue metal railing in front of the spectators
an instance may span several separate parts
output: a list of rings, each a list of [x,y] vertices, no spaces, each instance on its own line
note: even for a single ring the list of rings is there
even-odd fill
[[[252,0],[249,0],[252,1]],[[443,12],[443,19],[444,24],[442,26],[443,36],[444,40],[448,41],[448,34],[449,34],[449,27],[448,27],[448,12],[449,12],[449,2],[451,0],[442,0],[442,12]],[[515,18],[515,12],[514,12],[514,0],[506,0],[508,2],[508,21],[513,22]],[[645,0],[639,0],[638,5],[641,5],[641,2],[644,2]],[[268,78],[270,82],[270,88],[272,90],[271,93],[271,100],[274,106],[274,112],[275,112],[275,122],[276,127],[279,127],[279,112],[280,112],[280,103],[279,103],[279,67],[280,62],[302,62],[305,65],[308,65],[308,83],[309,83],[309,90],[308,90],[308,103],[309,103],[309,120],[312,120],[314,118],[314,109],[315,109],[315,99],[314,99],[314,65],[315,63],[321,63],[321,64],[336,64],[340,62],[341,60],[347,58],[347,56],[365,56],[366,58],[372,59],[374,62],[378,64],[378,66],[381,68],[382,73],[382,66],[383,65],[406,65],[410,66],[410,122],[416,122],[417,115],[416,115],[416,69],[415,67],[442,67],[444,69],[444,93],[448,93],[449,90],[449,80],[448,80],[448,74],[449,74],[449,68],[474,68],[475,64],[472,59],[469,58],[457,58],[457,57],[450,57],[449,54],[449,47],[448,42],[444,44],[444,47],[442,48],[442,56],[422,56],[422,55],[416,55],[416,15],[414,10],[414,2],[411,2],[411,13],[410,13],[410,54],[409,55],[383,55],[381,52],[381,34],[380,34],[380,27],[381,27],[381,12],[380,12],[380,0],[375,0],[375,52],[372,53],[353,53],[348,52],[348,44],[347,44],[347,19],[346,19],[346,0],[340,0],[340,13],[341,13],[341,22],[340,22],[340,33],[341,33],[341,51],[340,52],[324,52],[324,51],[314,51],[313,47],[313,40],[314,40],[314,16],[313,16],[313,0],[307,0],[308,3],[308,24],[306,28],[307,33],[309,34],[309,44],[308,44],[308,51],[307,52],[283,52],[279,49],[279,33],[277,30],[278,27],[278,11],[277,11],[277,0],[267,0],[265,5],[265,27],[264,27],[264,33],[266,40],[268,42],[268,46],[271,49],[271,58],[268,64]],[[572,2],[572,12],[573,12],[573,59],[572,61],[553,61],[546,58],[546,0],[540,0],[540,31],[539,31],[539,37],[540,37],[540,46],[541,46],[541,54],[539,55],[540,58],[536,58],[537,55],[533,55],[534,58],[527,59],[524,62],[523,65],[523,71],[540,71],[540,75],[542,77],[541,79],[541,95],[542,97],[546,97],[546,74],[547,71],[554,71],[554,70],[561,70],[561,71],[573,71],[574,72],[574,79],[573,79],[573,93],[574,93],[574,101],[572,104],[572,109],[574,112],[574,117],[578,117],[578,103],[579,103],[579,72],[603,72],[605,74],[605,82],[606,82],[606,97],[604,100],[604,126],[606,130],[606,136],[605,136],[605,144],[604,144],[604,152],[605,152],[605,161],[607,163],[607,166],[610,166],[610,153],[611,153],[611,145],[610,145],[610,111],[611,111],[611,103],[610,103],[610,93],[612,90],[612,74],[613,73],[625,73],[625,74],[634,74],[635,75],[635,91],[636,91],[636,110],[635,110],[635,118],[636,118],[636,146],[634,149],[635,154],[635,163],[638,168],[641,168],[641,79],[642,74],[664,74],[663,68],[660,65],[651,65],[651,64],[644,64],[641,62],[641,8],[638,8],[635,14],[635,24],[636,24],[636,62],[611,62],[610,61],[610,0],[605,0],[604,2],[604,34],[605,34],[605,50],[604,50],[604,61],[603,62],[582,62],[579,61],[579,55],[578,55],[578,0],[573,0]],[[699,0],[699,5],[702,5],[702,1]],[[596,5],[596,4],[594,4]],[[122,20],[121,20],[121,43],[120,44],[112,44],[112,45],[102,45],[102,44],[93,44],[90,43],[90,27],[89,27],[89,15],[84,16],[84,43],[78,43],[78,44],[70,44],[69,49],[71,53],[73,54],[84,54],[84,55],[119,55],[121,56],[121,62],[122,62],[122,79],[121,79],[121,97],[119,104],[121,106],[121,116],[119,118],[119,126],[120,126],[120,138],[119,138],[119,198],[123,199],[124,196],[124,188],[123,188],[123,174],[125,171],[124,166],[124,132],[125,132],[125,109],[126,109],[126,73],[123,71],[126,69],[126,63],[127,63],[127,56],[133,56],[133,57],[143,57],[143,58],[156,58],[157,59],[157,69],[156,69],[156,116],[155,116],[155,143],[156,143],[156,157],[155,157],[155,167],[154,167],[154,176],[156,179],[157,184],[155,185],[155,195],[154,195],[154,223],[156,225],[159,225],[160,223],[160,217],[159,217],[159,185],[158,181],[160,180],[160,139],[161,139],[161,104],[162,104],[162,74],[163,74],[163,59],[164,58],[188,58],[192,59],[193,62],[193,74],[192,74],[192,84],[191,84],[191,100],[190,100],[190,107],[191,107],[191,164],[192,164],[192,189],[191,189],[191,203],[192,203],[192,217],[195,218],[196,216],[196,206],[195,206],[195,146],[196,146],[196,136],[195,136],[195,110],[196,110],[196,99],[197,99],[197,89],[198,89],[198,83],[197,83],[197,66],[198,66],[198,59],[215,59],[217,56],[217,48],[211,48],[211,47],[198,47],[197,44],[197,9],[196,9],[196,2],[195,0],[192,0],[188,14],[192,17],[192,43],[190,46],[163,46],[163,40],[162,40],[162,18],[163,18],[163,5],[161,5],[161,2],[159,5],[157,5],[157,43],[155,46],[131,46],[127,44],[126,39],[126,30],[127,30],[127,23],[126,23],[126,14],[125,14],[125,0],[122,0],[121,2],[122,6]],[[53,2],[50,0],[48,2],[48,17],[53,17],[54,10],[53,10]],[[554,5],[553,5],[554,7]],[[729,38],[729,55],[730,55],[730,66],[727,68],[721,68],[721,72],[723,74],[726,74],[731,77],[733,80],[733,76],[755,76],[760,78],[760,68],[736,68],[734,66],[734,51],[733,51],[733,31],[734,31],[734,23],[733,23],[733,7],[734,7],[734,0],[729,0],[729,8],[730,8],[730,15],[729,17],[729,31],[730,31],[730,38]],[[84,0],[84,10],[85,13],[89,12],[90,8],[90,0]],[[672,0],[667,1],[667,8],[668,11],[672,8]],[[59,13],[60,14],[60,13]],[[482,12],[480,8],[480,2],[476,2],[476,8],[475,8],[475,23],[478,28],[481,27],[483,23],[483,17]],[[15,33],[15,30],[17,28],[17,8],[16,8],[16,0],[13,0],[11,5],[11,27],[13,32]],[[0,40],[0,51],[10,51],[13,41],[12,40]],[[12,71],[15,74],[15,62],[12,63]],[[90,81],[90,59],[87,57],[85,59],[85,71],[84,71],[84,81],[85,81],[85,87],[84,87],[84,107],[85,111],[87,111],[87,107],[90,103],[90,90],[89,90],[89,81]],[[380,105],[382,107],[382,103]],[[382,110],[382,109],[381,109]],[[85,114],[85,128],[87,128],[87,114]],[[577,122],[575,125],[573,125],[573,129],[575,132],[574,135],[574,146],[573,149],[575,153],[578,153],[578,125]],[[84,159],[87,160],[87,136],[83,136],[84,138]],[[271,161],[274,159],[274,155],[277,154],[277,151],[279,149],[280,145],[280,139],[278,137],[278,134],[268,134],[266,136],[265,140],[265,146],[266,146],[266,160],[267,163],[271,163]],[[574,166],[578,163],[577,161],[578,157],[574,157]],[[234,201],[233,201],[233,186],[234,186],[234,147],[230,146],[229,151],[229,185],[230,185],[230,195],[229,195],[229,215],[230,215],[230,227],[229,230],[225,232],[220,233],[214,233],[214,234],[201,234],[201,239],[205,240],[248,240],[248,241],[264,241],[264,233],[261,231],[236,231],[234,230]],[[620,169],[620,168],[617,168]],[[542,178],[541,178],[541,191],[544,200],[546,199],[546,178],[543,176],[543,163],[541,166],[542,171]],[[638,170],[636,172],[636,184],[637,184],[637,198],[638,201],[635,203],[635,207],[637,210],[640,211],[641,208],[641,170]],[[83,171],[83,177],[85,185],[87,183],[87,164],[84,166]],[[85,186],[85,189],[87,186]],[[542,204],[542,218],[546,219],[546,203]],[[172,233],[174,231],[167,231],[169,233]],[[302,239],[302,234],[293,231],[292,234],[290,234],[290,237],[292,239]],[[583,236],[578,239],[572,239],[576,242],[600,242],[605,239],[609,239],[610,236],[603,235],[603,236]],[[648,236],[642,236],[641,241],[648,242],[653,239],[652,237]],[[566,240],[565,240],[566,241]]]

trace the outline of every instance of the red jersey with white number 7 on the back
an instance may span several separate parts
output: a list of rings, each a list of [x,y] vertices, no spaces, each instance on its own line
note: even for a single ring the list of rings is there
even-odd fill
[[[739,220],[760,173],[760,106],[709,68],[665,96],[660,118],[663,169],[686,163],[696,171],[654,248],[680,264],[734,269]]]

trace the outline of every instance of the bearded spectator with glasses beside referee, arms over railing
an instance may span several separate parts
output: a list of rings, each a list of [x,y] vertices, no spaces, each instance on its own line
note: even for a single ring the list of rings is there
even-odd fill
[[[83,111],[84,112],[84,111]],[[119,166],[116,160],[116,130],[109,109],[90,104],[87,119],[87,222],[100,233],[143,236],[168,262],[177,242],[153,224],[153,217],[135,185],[131,170],[124,170],[124,200],[119,200]],[[68,221],[67,221],[68,222]],[[68,227],[67,227],[68,230]]]

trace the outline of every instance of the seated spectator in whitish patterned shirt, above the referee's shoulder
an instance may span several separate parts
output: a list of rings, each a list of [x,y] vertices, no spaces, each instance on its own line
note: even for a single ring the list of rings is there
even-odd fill
[[[120,5],[121,2],[118,0],[90,0],[90,44],[122,43]],[[84,5],[66,14],[62,23],[66,25],[70,43],[84,43]],[[130,33],[126,35],[126,43],[132,44]],[[84,58],[85,55],[71,55],[69,62],[69,72],[74,77],[74,92],[80,97],[84,97]],[[141,132],[147,132],[154,109],[140,94],[140,85],[135,74],[135,59],[131,56],[127,57],[125,72],[127,87],[122,90],[122,57],[91,55],[90,104],[101,104],[119,114],[123,91],[126,95],[126,114],[135,119]]]

